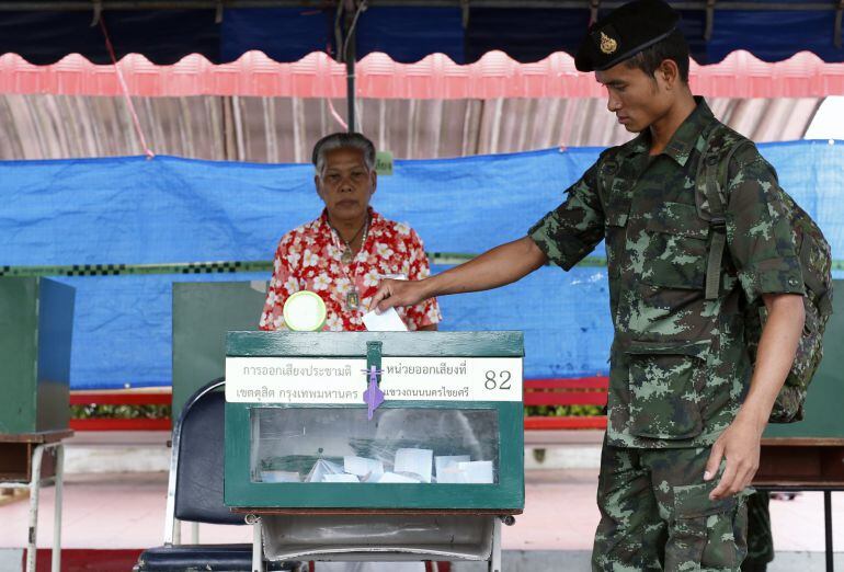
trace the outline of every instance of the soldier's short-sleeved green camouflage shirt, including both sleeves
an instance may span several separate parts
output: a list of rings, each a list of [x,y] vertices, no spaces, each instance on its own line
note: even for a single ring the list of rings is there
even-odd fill
[[[776,172],[748,144],[727,165],[721,287],[717,299],[705,298],[710,227],[695,180],[717,119],[696,100],[660,155],[649,155],[648,130],[607,149],[529,230],[564,270],[606,241],[614,446],[712,444],[750,384],[743,306],[765,293],[803,294]]]

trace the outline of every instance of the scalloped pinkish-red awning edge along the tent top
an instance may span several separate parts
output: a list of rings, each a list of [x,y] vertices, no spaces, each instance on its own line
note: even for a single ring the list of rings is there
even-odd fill
[[[249,52],[231,64],[215,65],[191,55],[173,66],[157,66],[132,54],[118,64],[134,96],[242,95],[263,98],[345,98],[345,67],[324,53],[280,64]],[[122,95],[115,66],[98,66],[78,54],[49,66],[34,66],[16,54],[0,56],[0,94]],[[768,64],[734,52],[719,64],[692,62],[692,89],[709,98],[824,98],[844,95],[844,64],[826,64],[801,52]],[[356,67],[356,95],[372,99],[489,100],[497,98],[601,98],[592,73],[556,53],[520,64],[490,52],[469,65],[433,54],[415,64],[398,64],[369,54]]]

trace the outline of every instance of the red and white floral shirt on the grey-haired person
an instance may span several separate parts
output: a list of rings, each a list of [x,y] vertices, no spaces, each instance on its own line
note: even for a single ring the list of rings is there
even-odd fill
[[[362,317],[383,278],[419,281],[431,274],[422,240],[412,228],[387,220],[372,208],[369,214],[366,241],[347,265],[341,262],[345,244],[329,225],[326,210],[318,219],[282,237],[261,313],[261,330],[284,329],[282,309],[287,297],[311,290],[326,302],[326,330],[365,331]],[[434,298],[396,310],[408,330],[443,319]]]

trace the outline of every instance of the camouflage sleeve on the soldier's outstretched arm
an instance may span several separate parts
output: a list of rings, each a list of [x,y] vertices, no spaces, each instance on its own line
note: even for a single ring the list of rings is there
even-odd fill
[[[604,210],[597,193],[597,163],[566,190],[566,201],[540,218],[527,236],[548,260],[569,270],[604,238]]]

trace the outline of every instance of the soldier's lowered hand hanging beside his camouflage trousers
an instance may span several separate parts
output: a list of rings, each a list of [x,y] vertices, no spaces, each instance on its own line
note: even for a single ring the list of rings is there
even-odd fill
[[[718,467],[725,457],[727,466],[718,485],[709,493],[709,499],[726,499],[750,487],[759,469],[761,439],[762,432],[757,424],[745,421],[741,415],[721,433],[709,454],[704,480],[710,481],[718,474]]]

